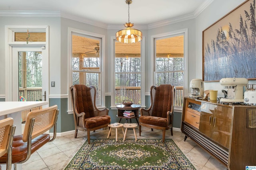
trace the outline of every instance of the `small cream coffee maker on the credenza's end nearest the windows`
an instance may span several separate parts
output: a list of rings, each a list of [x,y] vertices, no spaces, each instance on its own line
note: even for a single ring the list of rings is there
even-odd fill
[[[190,97],[203,98],[204,97],[204,82],[202,79],[194,78],[190,82],[191,94]]]

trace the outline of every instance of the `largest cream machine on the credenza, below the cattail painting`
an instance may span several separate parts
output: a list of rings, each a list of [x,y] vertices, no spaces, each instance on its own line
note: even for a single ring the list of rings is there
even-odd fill
[[[244,102],[244,86],[248,84],[246,78],[222,78],[220,85],[227,89],[227,98],[221,98],[221,103],[240,103]]]

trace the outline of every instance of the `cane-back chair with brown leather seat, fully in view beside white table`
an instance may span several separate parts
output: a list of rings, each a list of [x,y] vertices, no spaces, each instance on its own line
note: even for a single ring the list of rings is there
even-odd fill
[[[55,139],[56,122],[59,112],[57,107],[57,105],[54,105],[28,113],[23,135],[13,137],[12,163],[14,164],[14,170],[16,170],[16,164],[26,162],[32,153]],[[52,127],[54,127],[54,133],[51,139],[49,134],[44,133]],[[0,157],[0,163],[5,162],[6,154]]]

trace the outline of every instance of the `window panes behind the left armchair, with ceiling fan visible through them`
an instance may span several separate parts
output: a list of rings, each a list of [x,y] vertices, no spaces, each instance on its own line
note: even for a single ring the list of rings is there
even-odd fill
[[[72,33],[72,82],[94,86],[97,90],[96,105],[103,106],[102,98],[102,39]]]

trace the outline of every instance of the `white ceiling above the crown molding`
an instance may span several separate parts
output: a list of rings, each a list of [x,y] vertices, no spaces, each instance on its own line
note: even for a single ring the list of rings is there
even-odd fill
[[[133,0],[130,22],[134,25],[195,18],[213,0]],[[0,13],[12,11],[57,11],[107,25],[128,22],[125,0],[0,0]],[[134,27],[135,27],[134,26]]]

